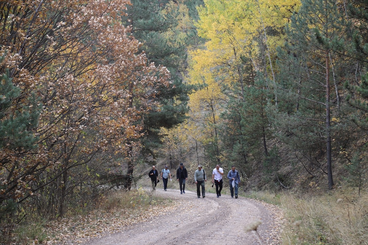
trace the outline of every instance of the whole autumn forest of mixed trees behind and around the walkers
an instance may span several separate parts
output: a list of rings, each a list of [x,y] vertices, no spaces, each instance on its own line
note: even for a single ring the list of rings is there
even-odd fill
[[[180,163],[234,165],[250,195],[346,190],[365,239],[368,0],[6,0],[0,10],[4,241],[27,220],[91,208],[136,190],[152,165]]]

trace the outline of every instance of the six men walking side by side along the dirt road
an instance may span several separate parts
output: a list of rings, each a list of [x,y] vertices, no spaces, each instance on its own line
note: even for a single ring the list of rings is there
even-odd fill
[[[152,166],[151,171],[148,173],[148,176],[151,177],[152,188],[156,190],[156,185],[159,182],[159,171],[156,170],[155,166]],[[220,165],[216,165],[215,169],[212,171],[212,187],[216,185],[216,195],[217,198],[221,197],[221,191],[223,186],[223,176],[224,170]],[[160,172],[160,178],[162,179],[164,191],[167,189],[168,178],[171,180],[170,170],[165,166],[164,169]],[[231,198],[238,198],[238,186],[240,184],[240,175],[238,170],[235,169],[235,166],[231,166],[231,170],[227,173],[227,179],[229,179],[230,184],[230,194]],[[185,194],[185,181],[188,180],[188,172],[184,167],[183,163],[180,163],[180,166],[176,170],[176,180],[179,182],[180,194]],[[205,182],[207,181],[207,176],[202,169],[202,165],[198,165],[198,169],[194,172],[194,182],[197,185],[197,196],[201,198],[201,189],[202,189],[202,198],[205,198],[206,190],[205,190]]]

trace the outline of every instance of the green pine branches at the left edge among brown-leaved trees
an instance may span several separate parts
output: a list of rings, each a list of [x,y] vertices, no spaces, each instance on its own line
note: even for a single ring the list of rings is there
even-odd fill
[[[0,62],[3,60],[0,57]],[[13,155],[22,159],[27,152],[37,147],[38,137],[32,131],[38,124],[40,105],[35,95],[29,98],[29,105],[23,106],[17,100],[20,96],[20,89],[12,83],[9,71],[0,75],[0,150],[7,152],[4,155]],[[13,152],[13,153],[11,153]],[[0,161],[0,174],[7,174],[4,168],[8,163],[8,158]],[[16,164],[12,166],[12,173],[17,169]],[[8,188],[8,183],[1,183],[0,190],[0,218],[12,213],[17,208],[15,196]]]

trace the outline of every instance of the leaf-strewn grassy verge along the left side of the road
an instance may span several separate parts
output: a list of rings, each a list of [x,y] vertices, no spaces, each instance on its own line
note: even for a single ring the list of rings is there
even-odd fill
[[[19,217],[24,216],[17,212],[8,219],[12,224],[8,223],[7,228],[1,225],[0,244],[55,244],[67,239],[88,239],[145,221],[168,205],[173,206],[172,202],[138,188],[107,192],[96,199],[94,205],[70,207],[66,216],[59,219],[41,218],[34,213],[28,214],[30,218],[26,221],[17,223]]]

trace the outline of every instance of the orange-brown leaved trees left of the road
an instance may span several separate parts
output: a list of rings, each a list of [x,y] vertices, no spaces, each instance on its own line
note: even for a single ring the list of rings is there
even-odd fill
[[[170,74],[138,53],[141,43],[119,21],[127,4],[1,1],[1,83],[10,79],[19,93],[0,120],[28,115],[22,135],[1,126],[4,213],[32,203],[43,215],[63,215],[72,195],[92,194],[93,177],[116,170],[113,156],[139,147],[143,115]]]

